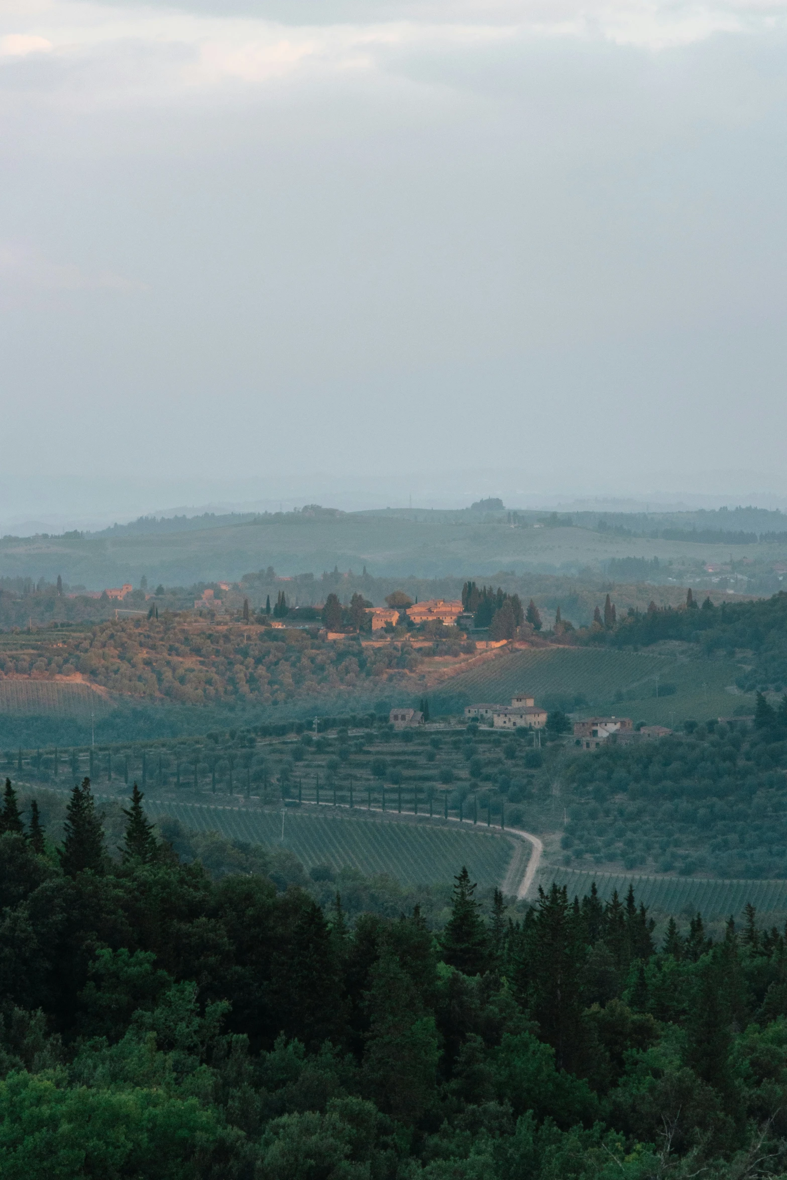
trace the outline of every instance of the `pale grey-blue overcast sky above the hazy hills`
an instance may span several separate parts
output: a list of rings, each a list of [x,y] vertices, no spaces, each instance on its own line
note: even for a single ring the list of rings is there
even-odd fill
[[[787,494],[786,18],[0,0],[0,517]]]

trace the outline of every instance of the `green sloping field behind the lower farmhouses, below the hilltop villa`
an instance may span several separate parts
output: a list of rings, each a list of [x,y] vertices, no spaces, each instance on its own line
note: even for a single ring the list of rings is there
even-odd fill
[[[439,708],[460,708],[473,701],[509,701],[530,691],[537,701],[565,699],[577,712],[609,710],[670,726],[683,717],[728,716],[753,699],[733,695],[727,686],[740,674],[733,660],[682,658],[674,655],[616,651],[609,648],[540,648],[506,651],[447,682],[434,694]],[[656,696],[656,678],[660,693]],[[664,687],[674,693],[664,695]],[[582,696],[586,706],[573,704]]]

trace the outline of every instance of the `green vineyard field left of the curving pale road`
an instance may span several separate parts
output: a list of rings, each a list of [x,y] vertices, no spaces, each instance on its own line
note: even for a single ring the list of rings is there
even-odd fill
[[[204,807],[198,804],[151,806],[197,832],[221,832],[248,844],[284,847],[310,868],[329,864],[370,876],[388,873],[404,885],[450,881],[463,865],[479,885],[499,885],[514,851],[514,841],[488,832],[460,831],[429,824],[349,819],[287,809],[282,841],[281,811]]]

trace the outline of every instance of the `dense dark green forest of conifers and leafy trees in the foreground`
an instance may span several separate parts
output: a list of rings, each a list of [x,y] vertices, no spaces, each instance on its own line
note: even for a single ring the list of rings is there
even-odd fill
[[[182,864],[87,779],[61,845],[0,813],[0,1171],[156,1180],[783,1173],[787,944],[749,906],[656,943],[634,891],[485,910],[466,870],[354,923]]]

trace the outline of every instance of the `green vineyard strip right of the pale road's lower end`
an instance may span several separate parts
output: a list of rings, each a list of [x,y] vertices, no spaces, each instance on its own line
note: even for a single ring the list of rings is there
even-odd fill
[[[623,898],[634,885],[638,902],[652,910],[665,913],[696,913],[703,918],[737,918],[743,906],[750,902],[761,913],[787,911],[787,880],[708,880],[696,877],[636,877],[630,873],[592,873],[571,868],[542,867],[538,884],[542,889],[556,881],[565,885],[569,897],[590,893],[596,883],[598,896],[609,900],[617,890]]]

